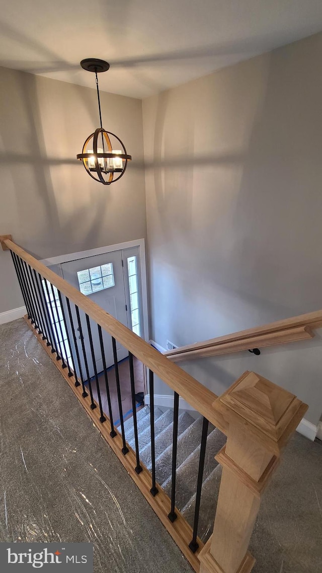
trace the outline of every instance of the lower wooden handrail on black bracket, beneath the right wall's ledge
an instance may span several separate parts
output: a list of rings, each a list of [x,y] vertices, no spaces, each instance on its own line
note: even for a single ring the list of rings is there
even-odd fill
[[[232,340],[223,344],[214,344],[214,346],[207,346],[206,348],[196,348],[187,352],[179,352],[178,354],[165,354],[171,362],[182,362],[183,360],[193,360],[196,358],[206,358],[206,356],[218,356],[222,354],[232,354],[241,350],[250,350],[252,348],[263,348],[266,346],[275,346],[277,344],[286,344],[288,342],[296,342],[299,340],[307,340],[313,338],[314,333],[308,326],[298,326],[296,328],[287,328],[278,332],[269,332],[245,338],[242,340]]]

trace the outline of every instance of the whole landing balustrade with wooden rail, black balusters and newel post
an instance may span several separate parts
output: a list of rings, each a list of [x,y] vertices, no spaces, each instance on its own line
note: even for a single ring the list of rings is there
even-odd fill
[[[92,300],[16,245],[10,236],[2,236],[0,241],[2,247],[11,252],[28,313],[25,316],[27,324],[195,571],[201,573],[251,571],[254,558],[248,552],[248,545],[260,508],[261,496],[280,461],[282,447],[299,424],[307,405],[254,372],[245,372],[221,397],[217,397]],[[84,348],[84,322],[82,325],[80,311],[85,313],[91,347],[89,356]],[[68,328],[64,329],[66,313],[72,325],[73,340],[70,339]],[[80,333],[78,339],[75,335],[75,316]],[[97,328],[100,340],[108,414],[102,407],[96,370],[97,356],[93,347],[93,328]],[[113,422],[103,331],[112,339],[120,432]],[[124,433],[116,340],[129,351],[134,450],[127,444]],[[72,343],[74,353],[70,351]],[[140,460],[133,356],[149,369],[151,473]],[[95,372],[98,403],[93,398],[89,360],[92,360]],[[171,499],[156,481],[158,460],[155,458],[154,374],[174,391]],[[175,506],[179,396],[203,416],[193,528]],[[209,422],[227,435],[227,442],[216,456],[223,471],[213,535],[204,545],[198,537],[198,521]]]

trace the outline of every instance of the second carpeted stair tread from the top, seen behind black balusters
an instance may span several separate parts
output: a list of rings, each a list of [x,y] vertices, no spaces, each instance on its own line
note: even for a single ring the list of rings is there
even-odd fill
[[[205,466],[203,469],[203,481],[210,475],[218,465],[215,455],[225,445],[226,436],[218,428],[215,428],[207,438]],[[175,505],[182,509],[197,489],[198,468],[199,468],[200,445],[190,454],[176,471],[176,493]],[[162,488],[171,496],[171,476],[163,482]]]

